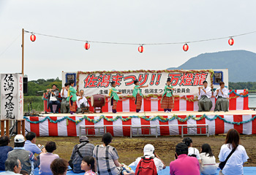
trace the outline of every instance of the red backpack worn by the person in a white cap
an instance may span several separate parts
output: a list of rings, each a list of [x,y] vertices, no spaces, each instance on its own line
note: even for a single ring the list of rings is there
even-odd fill
[[[135,175],[157,175],[157,167],[154,164],[154,158],[145,158],[143,156],[138,163]]]

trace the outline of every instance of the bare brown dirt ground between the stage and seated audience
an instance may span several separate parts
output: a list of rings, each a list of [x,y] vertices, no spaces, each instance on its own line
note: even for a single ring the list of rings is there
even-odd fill
[[[225,143],[225,136],[191,136],[193,141],[193,147],[200,150],[202,144],[210,144],[213,149],[214,156],[218,160],[219,149],[222,144]],[[92,144],[102,144],[101,138],[89,137]],[[57,149],[54,153],[58,154],[61,158],[69,160],[72,149],[75,144],[78,144],[78,137],[38,137],[37,144],[45,145],[47,141],[55,141]],[[146,144],[153,144],[155,152],[159,155],[166,166],[169,166],[170,161],[174,160],[174,152],[176,144],[182,141],[181,136],[160,136],[154,137],[134,137],[132,139],[128,137],[114,137],[112,143],[113,147],[116,147],[119,155],[119,162],[129,165],[135,161],[136,158],[143,155],[143,147]],[[245,163],[245,166],[256,166],[256,136],[255,135],[241,135],[241,145],[246,149],[249,160]],[[13,141],[11,142],[13,147]]]

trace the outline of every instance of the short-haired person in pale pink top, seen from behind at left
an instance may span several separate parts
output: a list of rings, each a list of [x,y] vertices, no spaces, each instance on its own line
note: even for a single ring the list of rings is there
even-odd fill
[[[56,150],[56,143],[54,141],[48,141],[45,144],[46,153],[42,153],[39,155],[40,157],[40,167],[39,174],[42,175],[50,175],[52,172],[50,171],[50,163],[53,162],[56,158],[59,158],[59,155],[53,154]]]

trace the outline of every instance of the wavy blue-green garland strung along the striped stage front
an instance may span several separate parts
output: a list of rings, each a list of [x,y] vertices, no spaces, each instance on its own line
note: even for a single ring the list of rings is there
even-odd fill
[[[43,120],[39,120],[39,121],[31,121],[31,120],[29,120],[29,117],[23,117],[23,119],[25,119],[27,122],[34,123],[34,124],[43,123],[43,122],[45,122],[45,120],[49,120],[50,123],[60,123],[64,120],[67,120],[67,125],[68,125],[68,121],[72,121],[73,123],[75,123],[75,125],[78,125],[78,123],[82,122],[83,120],[87,120],[91,123],[99,123],[99,121],[102,119],[107,120],[108,122],[115,122],[116,120],[121,119],[121,121],[127,122],[127,121],[131,120],[132,118],[141,118],[146,121],[159,120],[160,122],[163,122],[163,123],[167,123],[167,122],[173,121],[173,120],[178,120],[180,122],[187,122],[187,120],[189,120],[189,119],[198,121],[198,120],[203,120],[204,118],[206,118],[206,120],[212,121],[212,120],[216,120],[217,118],[219,118],[219,120],[223,120],[225,123],[230,123],[233,125],[241,125],[244,123],[252,122],[253,120],[255,120],[256,115],[254,117],[250,118],[249,120],[245,120],[245,121],[241,121],[241,122],[230,122],[230,121],[225,120],[225,118],[220,117],[217,114],[213,118],[208,117],[206,114],[203,114],[201,117],[195,117],[194,115],[187,115],[187,117],[185,117],[185,118],[178,117],[178,115],[176,115],[176,114],[173,114],[173,116],[170,118],[165,118],[160,115],[157,115],[157,116],[154,116],[151,118],[146,117],[146,116],[136,116],[136,115],[132,115],[129,117],[116,116],[114,118],[108,118],[105,115],[101,115],[99,117],[99,119],[97,119],[97,120],[90,119],[88,116],[84,115],[79,120],[73,120],[72,118],[66,116],[66,117],[62,117],[61,119],[58,119],[58,120],[52,120],[52,119],[50,119],[50,117],[44,117]]]

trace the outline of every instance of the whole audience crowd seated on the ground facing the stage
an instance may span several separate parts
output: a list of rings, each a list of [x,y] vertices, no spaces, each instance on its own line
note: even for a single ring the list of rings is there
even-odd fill
[[[57,149],[54,141],[48,141],[45,147],[36,144],[37,136],[33,132],[24,136],[18,134],[14,138],[14,148],[8,146],[10,139],[7,136],[0,138],[0,175],[34,174],[34,169],[39,168],[40,175],[66,175],[69,166],[74,173],[84,175],[119,175],[119,174],[152,174],[157,175],[165,169],[165,163],[157,155],[152,144],[146,144],[143,155],[126,166],[118,162],[118,152],[110,146],[113,137],[110,133],[102,136],[102,144],[94,146],[89,143],[86,136],[80,137],[80,143],[72,150],[69,162],[53,154]],[[176,145],[175,160],[170,162],[171,175],[199,175],[219,174],[231,175],[244,174],[244,163],[249,159],[246,150],[240,144],[240,137],[236,129],[227,132],[225,144],[219,152],[219,161],[209,144],[203,144],[200,151],[193,147],[192,139],[187,137]],[[37,157],[34,155],[37,154]],[[135,166],[135,172],[130,166]]]

